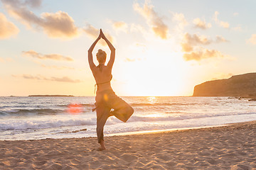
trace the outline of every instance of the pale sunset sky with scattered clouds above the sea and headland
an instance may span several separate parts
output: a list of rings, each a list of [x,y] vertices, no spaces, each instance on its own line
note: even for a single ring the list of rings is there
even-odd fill
[[[255,72],[256,1],[0,0],[0,96],[95,96],[87,50],[116,48],[119,96],[191,96]],[[110,49],[100,40],[93,51]]]

